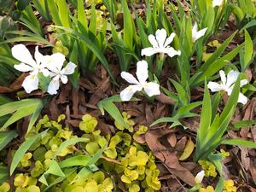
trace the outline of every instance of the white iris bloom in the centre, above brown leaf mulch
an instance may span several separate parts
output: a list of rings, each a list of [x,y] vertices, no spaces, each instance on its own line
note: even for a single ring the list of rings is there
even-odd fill
[[[147,82],[148,79],[148,63],[147,61],[137,62],[137,79],[131,74],[122,72],[121,77],[125,79],[129,85],[125,90],[122,90],[120,97],[122,101],[130,101],[131,97],[137,91],[145,90],[148,96],[160,95],[160,85],[154,82]]]

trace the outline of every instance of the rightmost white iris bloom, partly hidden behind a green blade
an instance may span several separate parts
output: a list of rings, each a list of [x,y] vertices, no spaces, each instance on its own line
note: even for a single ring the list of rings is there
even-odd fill
[[[219,75],[221,78],[221,83],[218,84],[216,82],[210,81],[208,83],[209,89],[212,90],[212,92],[224,90],[225,92],[228,93],[228,96],[230,96],[232,93],[232,90],[234,88],[234,85],[236,83],[236,79],[239,76],[239,73],[234,70],[231,70],[230,73],[228,73],[228,75],[226,77],[224,71],[220,70]],[[242,87],[243,85],[245,85],[247,83],[248,83],[247,79],[242,79],[240,82],[240,87]],[[246,104],[247,97],[242,95],[242,93],[239,93],[238,102],[241,102],[242,104]]]

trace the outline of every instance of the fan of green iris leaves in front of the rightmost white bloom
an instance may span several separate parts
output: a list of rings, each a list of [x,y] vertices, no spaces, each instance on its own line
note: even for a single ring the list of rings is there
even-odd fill
[[[240,93],[241,79],[236,77],[228,101],[225,103],[221,113],[218,113],[220,94],[210,96],[207,82],[205,83],[204,99],[201,109],[201,120],[196,136],[195,162],[198,160],[211,161],[219,174],[222,174],[223,154],[214,153],[220,144],[238,145],[249,148],[256,148],[256,144],[240,138],[227,138],[230,121],[236,112],[236,104]],[[231,76],[233,77],[233,76]],[[225,81],[227,82],[227,81]]]

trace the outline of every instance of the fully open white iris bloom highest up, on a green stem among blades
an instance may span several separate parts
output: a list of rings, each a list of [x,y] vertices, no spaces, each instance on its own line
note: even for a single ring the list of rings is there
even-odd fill
[[[180,50],[175,50],[171,46],[169,46],[169,44],[172,43],[175,35],[176,34],[172,32],[170,37],[167,38],[166,30],[158,29],[155,32],[155,37],[152,34],[148,36],[148,40],[150,44],[152,44],[152,47],[142,49],[142,55],[151,56],[157,53],[167,54],[170,57],[173,57],[175,55],[181,55]]]

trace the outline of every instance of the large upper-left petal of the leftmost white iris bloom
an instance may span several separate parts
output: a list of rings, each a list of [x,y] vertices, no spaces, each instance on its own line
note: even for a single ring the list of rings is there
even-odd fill
[[[33,60],[31,53],[24,44],[17,44],[12,48],[12,55],[16,60],[29,64],[32,67],[36,66],[36,61]]]

